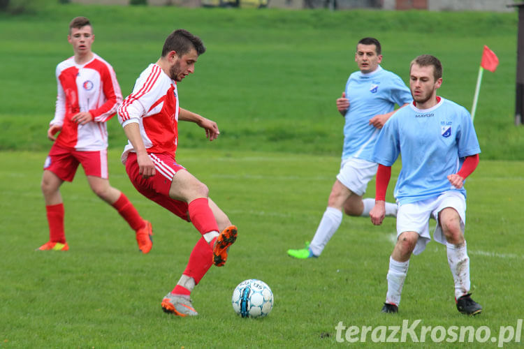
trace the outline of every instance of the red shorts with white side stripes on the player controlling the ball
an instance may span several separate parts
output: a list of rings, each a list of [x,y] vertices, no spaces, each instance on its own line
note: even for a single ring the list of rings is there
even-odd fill
[[[154,163],[155,174],[153,177],[145,179],[138,173],[136,153],[129,152],[126,160],[126,172],[131,183],[140,194],[189,222],[187,202],[175,200],[169,196],[173,176],[176,172],[185,170],[184,166],[178,165],[175,158],[168,154],[149,154],[149,156]]]

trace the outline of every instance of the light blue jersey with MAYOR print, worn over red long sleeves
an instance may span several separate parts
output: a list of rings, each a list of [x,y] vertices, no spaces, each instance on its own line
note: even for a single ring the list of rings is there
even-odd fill
[[[439,98],[439,97],[437,97]],[[464,158],[480,153],[470,113],[444,98],[434,107],[403,107],[384,124],[373,152],[373,161],[391,166],[402,154],[402,170],[395,186],[400,205],[435,198],[451,185],[447,176],[457,173]]]

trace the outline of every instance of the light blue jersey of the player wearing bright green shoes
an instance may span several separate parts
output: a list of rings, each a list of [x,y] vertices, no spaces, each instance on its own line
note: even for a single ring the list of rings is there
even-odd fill
[[[398,75],[379,66],[371,73],[356,71],[349,75],[346,98],[349,109],[345,115],[342,160],[354,157],[372,161],[374,142],[380,130],[370,125],[370,119],[392,112],[395,103],[411,102],[412,95]]]

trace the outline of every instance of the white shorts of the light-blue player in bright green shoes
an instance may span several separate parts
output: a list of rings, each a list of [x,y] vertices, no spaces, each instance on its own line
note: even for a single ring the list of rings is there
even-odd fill
[[[377,174],[379,165],[360,158],[347,158],[340,164],[337,179],[356,195],[364,195],[367,184]]]

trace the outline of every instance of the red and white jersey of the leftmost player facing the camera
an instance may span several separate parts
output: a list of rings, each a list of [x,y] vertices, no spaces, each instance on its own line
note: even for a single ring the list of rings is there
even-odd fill
[[[50,125],[61,126],[57,143],[79,151],[98,151],[108,147],[105,121],[115,116],[122,103],[122,91],[112,66],[97,54],[79,65],[75,57],[57,66],[57,106]],[[85,125],[71,121],[78,112],[90,112],[94,119]]]

